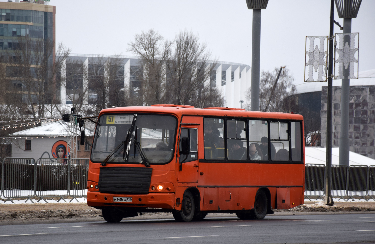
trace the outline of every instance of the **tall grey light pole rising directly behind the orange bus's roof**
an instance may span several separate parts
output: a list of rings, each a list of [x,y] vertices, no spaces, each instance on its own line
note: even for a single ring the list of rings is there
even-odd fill
[[[253,10],[253,33],[251,47],[251,110],[259,111],[260,77],[260,23],[261,10],[267,8],[268,0],[246,0],[248,9]]]

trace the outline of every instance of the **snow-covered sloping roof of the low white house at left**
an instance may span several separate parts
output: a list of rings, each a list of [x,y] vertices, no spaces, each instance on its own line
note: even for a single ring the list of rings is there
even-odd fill
[[[93,136],[93,131],[85,128],[86,136]],[[62,120],[52,122],[46,125],[30,128],[23,131],[18,131],[12,134],[9,134],[9,137],[17,136],[67,136],[68,135],[68,123]],[[80,136],[80,131],[78,130],[77,135]]]

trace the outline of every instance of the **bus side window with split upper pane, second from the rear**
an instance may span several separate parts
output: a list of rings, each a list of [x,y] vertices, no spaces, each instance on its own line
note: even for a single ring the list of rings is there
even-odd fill
[[[272,161],[289,161],[288,122],[271,122],[270,133]]]

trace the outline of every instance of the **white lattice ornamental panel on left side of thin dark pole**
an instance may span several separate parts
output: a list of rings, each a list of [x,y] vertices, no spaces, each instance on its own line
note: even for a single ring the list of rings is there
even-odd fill
[[[327,81],[328,36],[306,36],[305,50],[305,81]]]

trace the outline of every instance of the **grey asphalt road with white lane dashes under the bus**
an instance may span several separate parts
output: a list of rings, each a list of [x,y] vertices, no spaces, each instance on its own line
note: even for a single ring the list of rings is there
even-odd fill
[[[267,215],[0,226],[0,243],[375,243],[375,214]]]

